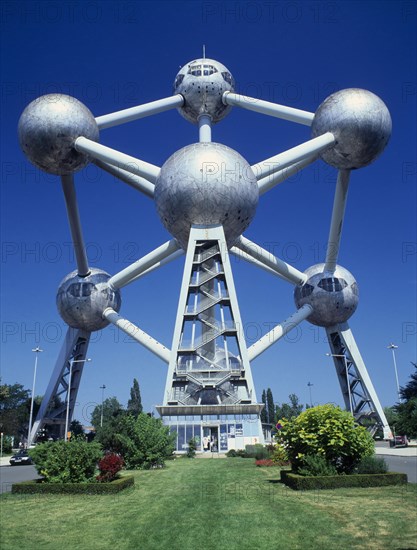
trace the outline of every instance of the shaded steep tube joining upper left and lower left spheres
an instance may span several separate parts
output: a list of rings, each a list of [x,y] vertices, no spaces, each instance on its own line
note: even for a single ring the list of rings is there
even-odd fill
[[[67,207],[68,222],[74,246],[75,259],[77,261],[78,275],[86,277],[90,273],[88,259],[85,251],[83,233],[81,229],[80,214],[78,211],[77,196],[75,193],[74,176],[61,176],[62,190]]]

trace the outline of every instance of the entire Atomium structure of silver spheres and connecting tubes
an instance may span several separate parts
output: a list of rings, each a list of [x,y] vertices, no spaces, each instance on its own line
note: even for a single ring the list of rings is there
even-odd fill
[[[356,88],[332,94],[310,113],[233,93],[234,87],[230,71],[203,56],[178,72],[173,96],[156,102],[95,118],[78,100],[52,94],[33,101],[23,112],[19,140],[24,153],[41,170],[61,176],[77,262],[77,270],[58,289],[58,310],[69,329],[29,443],[46,423],[63,424],[62,407],[55,410],[53,404],[64,392],[72,417],[90,333],[109,323],[168,364],[163,404],[157,407],[168,424],[172,418],[187,424],[197,415],[202,419],[199,428],[187,424],[186,433],[195,435],[200,430],[201,441],[210,415],[256,418],[256,428],[251,426],[250,432],[257,430],[251,440],[257,443],[263,440],[262,404],[256,399],[251,362],[307,320],[326,331],[347,409],[358,421],[373,419],[389,437],[384,411],[347,324],[358,305],[358,286],[337,263],[351,171],[373,162],[387,145],[388,109],[375,94]],[[212,126],[234,107],[311,127],[312,138],[307,136],[300,145],[250,165],[237,151],[212,141]],[[198,125],[199,142],[176,151],[162,167],[98,143],[101,130],[173,108]],[[319,156],[339,173],[324,262],[302,272],[243,233],[260,197]],[[84,245],[73,174],[90,160],[152,198],[162,224],[173,236],[112,276],[89,268]],[[183,283],[168,349],[119,315],[120,290],[184,252]],[[230,254],[295,287],[296,311],[249,347],[239,328],[244,324]],[[71,377],[71,362],[78,365],[75,377]],[[176,430],[176,424],[171,428]],[[235,428],[234,442],[244,446],[248,441],[241,433],[238,443],[237,424]],[[216,429],[210,427],[211,435],[223,436],[221,450],[226,451],[227,434]],[[178,439],[177,450],[183,449],[184,442]]]

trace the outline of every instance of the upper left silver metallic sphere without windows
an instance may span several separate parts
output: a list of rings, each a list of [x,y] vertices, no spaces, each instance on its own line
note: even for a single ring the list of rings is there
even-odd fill
[[[28,159],[48,174],[72,174],[88,164],[88,156],[73,147],[84,136],[98,141],[91,111],[64,94],[48,94],[29,103],[19,120],[19,142]]]

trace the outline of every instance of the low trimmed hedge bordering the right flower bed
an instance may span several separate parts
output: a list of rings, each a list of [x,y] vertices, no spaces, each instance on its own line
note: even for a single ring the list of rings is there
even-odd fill
[[[290,470],[281,470],[281,481],[296,491],[311,489],[338,489],[340,487],[384,487],[407,483],[407,474],[350,474],[337,476],[300,476]]]

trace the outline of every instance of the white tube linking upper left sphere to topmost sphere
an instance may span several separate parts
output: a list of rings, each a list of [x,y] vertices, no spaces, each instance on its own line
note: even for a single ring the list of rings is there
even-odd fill
[[[119,124],[125,124],[138,118],[144,118],[151,115],[168,111],[169,109],[175,109],[181,107],[184,103],[184,98],[181,94],[177,94],[164,99],[158,99],[151,101],[150,103],[144,103],[143,105],[137,105],[130,109],[123,109],[123,111],[117,111],[115,113],[109,113],[108,115],[102,115],[96,117],[97,126],[100,130],[104,128],[111,128],[112,126],[118,126]]]

